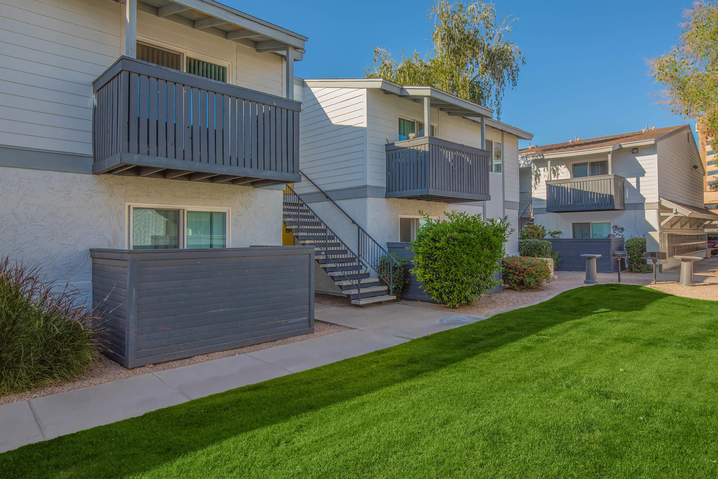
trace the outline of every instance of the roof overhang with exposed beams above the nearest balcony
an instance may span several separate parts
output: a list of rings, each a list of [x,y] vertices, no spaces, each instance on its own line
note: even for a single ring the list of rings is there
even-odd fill
[[[137,9],[253,47],[258,52],[286,56],[292,50],[294,60],[304,56],[307,37],[214,0],[138,0]]]

